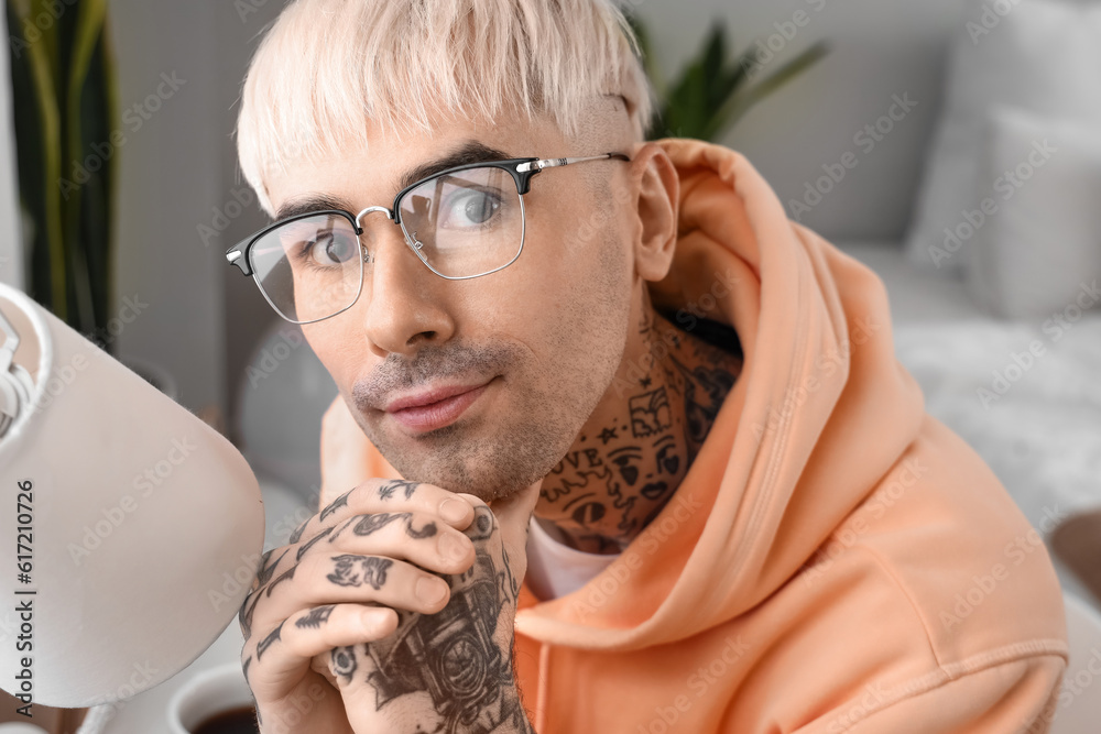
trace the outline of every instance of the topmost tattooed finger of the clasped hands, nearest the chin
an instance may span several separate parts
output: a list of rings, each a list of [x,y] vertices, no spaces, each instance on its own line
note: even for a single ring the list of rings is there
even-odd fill
[[[382,512],[425,513],[459,530],[465,529],[473,518],[469,502],[435,484],[403,479],[371,479],[339,495],[306,519],[291,534],[290,543],[310,538],[325,527],[353,515]]]

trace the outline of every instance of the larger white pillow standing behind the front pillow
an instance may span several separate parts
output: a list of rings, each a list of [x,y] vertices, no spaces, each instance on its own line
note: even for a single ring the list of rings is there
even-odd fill
[[[1101,3],[970,0],[950,48],[944,111],[907,233],[907,258],[966,265],[966,212],[993,188],[977,156],[991,105],[1101,120]],[[947,231],[946,231],[947,230]]]

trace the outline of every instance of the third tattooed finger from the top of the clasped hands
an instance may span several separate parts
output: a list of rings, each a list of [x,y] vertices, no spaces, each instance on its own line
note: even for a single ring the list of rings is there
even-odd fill
[[[307,554],[297,566],[257,592],[251,628],[271,628],[307,606],[375,603],[435,614],[450,596],[447,582],[393,558],[358,554]]]

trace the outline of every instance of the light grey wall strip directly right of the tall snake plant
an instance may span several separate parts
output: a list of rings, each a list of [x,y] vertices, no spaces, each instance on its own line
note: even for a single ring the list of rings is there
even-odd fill
[[[108,10],[124,135],[119,316],[132,316],[127,297],[141,309],[118,336],[118,353],[166,368],[179,402],[193,410],[221,405],[226,390],[224,273],[217,250],[196,233],[221,199],[226,128],[215,8],[210,1],[112,0]]]

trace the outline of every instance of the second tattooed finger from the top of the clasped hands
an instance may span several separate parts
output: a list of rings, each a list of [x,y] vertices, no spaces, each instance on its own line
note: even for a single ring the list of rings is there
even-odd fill
[[[298,547],[310,552],[349,552],[408,561],[437,573],[461,573],[475,561],[470,539],[422,513],[377,513],[349,518],[317,541]]]

